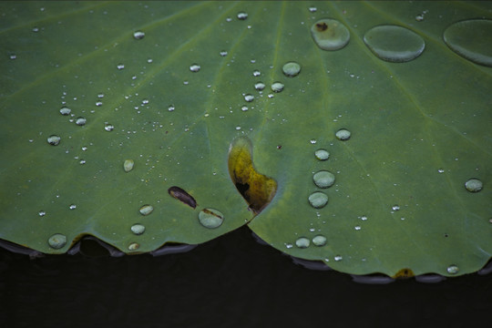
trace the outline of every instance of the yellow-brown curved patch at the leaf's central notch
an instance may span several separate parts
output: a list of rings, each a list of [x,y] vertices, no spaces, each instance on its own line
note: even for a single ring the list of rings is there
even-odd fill
[[[232,141],[228,164],[232,182],[250,209],[259,214],[275,196],[277,182],[254,169],[249,138],[240,137]]]

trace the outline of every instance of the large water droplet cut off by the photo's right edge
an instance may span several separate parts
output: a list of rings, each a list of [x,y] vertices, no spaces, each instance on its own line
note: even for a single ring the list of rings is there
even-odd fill
[[[492,20],[468,19],[446,28],[446,45],[459,56],[492,67]]]

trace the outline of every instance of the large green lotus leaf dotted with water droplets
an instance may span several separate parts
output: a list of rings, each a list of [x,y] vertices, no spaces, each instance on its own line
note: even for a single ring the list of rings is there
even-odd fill
[[[442,35],[457,21],[490,18],[490,3],[315,6],[1,3],[0,238],[59,253],[89,234],[141,252],[248,222],[273,247],[341,272],[479,270],[492,252],[492,70],[458,56]],[[316,46],[311,28],[322,18],[348,28],[347,46]],[[364,34],[380,25],[414,31],[424,53],[404,63],[374,56]],[[301,65],[298,76],[282,73],[289,61]],[[270,90],[276,81],[280,93]],[[335,138],[340,128],[352,137]],[[57,146],[50,135],[61,137]],[[251,140],[254,167],[277,182],[256,216],[229,174],[237,137]],[[330,159],[316,159],[316,149]],[[135,162],[128,172],[126,159]],[[319,170],[333,172],[329,189],[313,183]],[[483,190],[466,190],[471,178]],[[171,197],[173,186],[197,207]],[[314,209],[308,197],[320,190],[329,202]],[[143,216],[146,204],[154,210]],[[218,228],[200,224],[204,209],[220,210]],[[131,231],[136,223],[144,233]],[[59,248],[60,236],[48,242],[56,233],[67,237]],[[296,246],[301,237],[308,247]]]

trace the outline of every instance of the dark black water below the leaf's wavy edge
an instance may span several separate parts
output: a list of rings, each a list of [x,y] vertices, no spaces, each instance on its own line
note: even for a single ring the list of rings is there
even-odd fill
[[[243,227],[180,253],[0,249],[0,327],[488,327],[492,275],[384,285],[313,271]],[[84,251],[86,250],[86,251]],[[90,253],[90,256],[87,255]]]

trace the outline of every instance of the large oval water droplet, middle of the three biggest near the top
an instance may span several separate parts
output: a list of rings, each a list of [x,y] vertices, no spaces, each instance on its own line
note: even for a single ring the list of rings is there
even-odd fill
[[[375,26],[364,35],[364,43],[375,56],[402,63],[420,56],[425,49],[424,39],[402,26]]]

